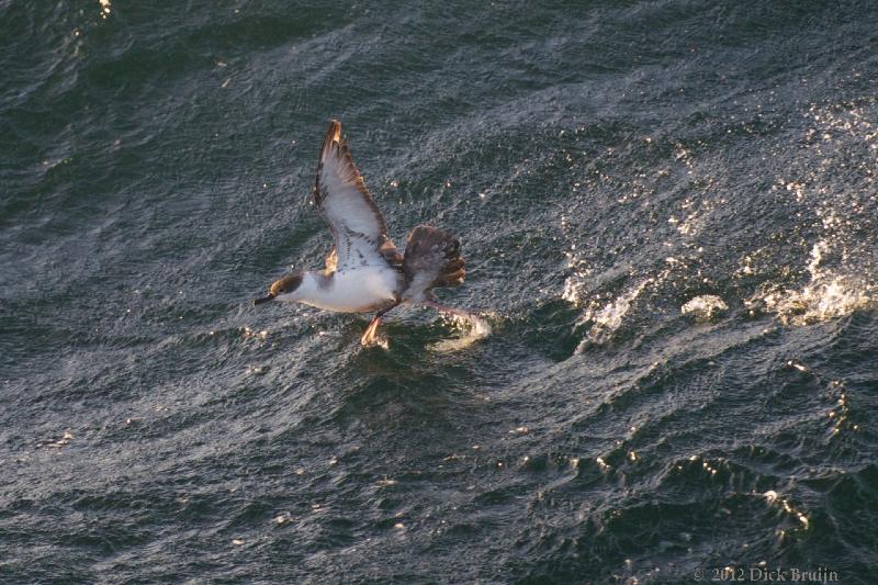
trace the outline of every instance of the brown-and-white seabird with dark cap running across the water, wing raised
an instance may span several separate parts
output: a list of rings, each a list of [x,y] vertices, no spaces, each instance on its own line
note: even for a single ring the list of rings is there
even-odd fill
[[[412,229],[405,255],[387,235],[381,215],[333,120],[320,148],[314,202],[333,232],[334,246],[324,270],[289,274],[271,284],[269,301],[304,303],[339,313],[375,313],[361,338],[374,342],[381,317],[394,307],[423,305],[477,322],[466,311],[439,304],[430,289],[460,286],[465,273],[458,238],[443,229]]]

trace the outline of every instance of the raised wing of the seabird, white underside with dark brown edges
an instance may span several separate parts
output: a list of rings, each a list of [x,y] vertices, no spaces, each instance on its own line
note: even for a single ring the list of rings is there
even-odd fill
[[[402,266],[402,255],[387,236],[387,224],[341,139],[341,124],[336,120],[329,124],[320,148],[314,201],[333,232],[338,270]],[[326,268],[330,268],[329,261]]]

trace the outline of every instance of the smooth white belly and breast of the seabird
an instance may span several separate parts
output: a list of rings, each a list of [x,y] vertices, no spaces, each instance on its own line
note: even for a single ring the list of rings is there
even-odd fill
[[[386,268],[358,268],[333,274],[331,285],[305,304],[339,313],[378,311],[396,300],[401,274]]]

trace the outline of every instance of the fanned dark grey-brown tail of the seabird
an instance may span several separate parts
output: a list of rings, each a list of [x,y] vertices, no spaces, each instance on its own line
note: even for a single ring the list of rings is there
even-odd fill
[[[419,225],[408,234],[403,257],[408,299],[435,286],[460,286],[466,274],[458,238],[437,227]]]

